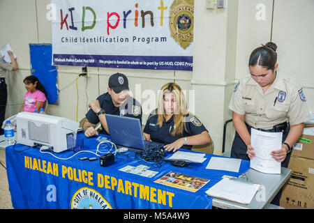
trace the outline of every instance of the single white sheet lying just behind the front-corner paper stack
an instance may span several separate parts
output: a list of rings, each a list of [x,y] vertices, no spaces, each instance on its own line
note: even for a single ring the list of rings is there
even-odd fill
[[[228,157],[211,157],[206,169],[239,172],[241,160]]]

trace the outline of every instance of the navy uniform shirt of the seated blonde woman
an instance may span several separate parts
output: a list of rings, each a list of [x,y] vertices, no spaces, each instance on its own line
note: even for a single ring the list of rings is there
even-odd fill
[[[195,134],[200,134],[207,129],[204,125],[193,115],[188,115],[184,117],[186,120],[186,130],[184,129],[183,133],[179,136],[172,136],[174,130],[174,116],[172,116],[168,121],[163,121],[163,126],[159,128],[157,125],[158,115],[156,111],[152,112],[147,119],[147,123],[144,128],[144,132],[150,134],[151,141],[160,142],[163,144],[172,144],[177,139],[182,137],[190,137]],[[208,132],[208,131],[207,131]],[[192,146],[184,145],[182,148],[191,149]]]

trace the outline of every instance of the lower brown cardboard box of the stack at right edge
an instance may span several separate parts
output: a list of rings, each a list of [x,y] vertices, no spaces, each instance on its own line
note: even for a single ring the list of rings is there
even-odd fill
[[[290,157],[290,179],[283,187],[280,206],[293,209],[314,208],[314,160]]]

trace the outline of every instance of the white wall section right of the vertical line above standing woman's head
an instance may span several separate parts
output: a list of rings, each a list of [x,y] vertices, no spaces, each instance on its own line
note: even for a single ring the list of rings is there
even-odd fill
[[[278,45],[278,72],[295,79],[304,89],[314,112],[314,1],[276,0],[273,41]]]

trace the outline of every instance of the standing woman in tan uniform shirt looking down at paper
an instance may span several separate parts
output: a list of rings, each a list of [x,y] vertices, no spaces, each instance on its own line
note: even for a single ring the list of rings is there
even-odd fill
[[[276,48],[276,44],[269,42],[255,49],[248,63],[251,75],[240,79],[234,88],[229,108],[237,132],[231,157],[249,160],[255,156],[251,128],[283,132],[281,149],[271,155],[282,167],[287,167],[291,148],[310,114],[302,89],[277,72]]]

